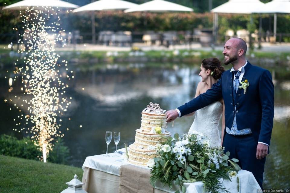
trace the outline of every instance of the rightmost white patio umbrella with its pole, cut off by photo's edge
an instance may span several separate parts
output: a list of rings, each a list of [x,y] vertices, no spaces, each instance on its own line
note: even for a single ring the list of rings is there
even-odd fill
[[[290,0],[272,0],[259,13],[274,13],[274,39],[277,33],[277,13],[290,13]]]

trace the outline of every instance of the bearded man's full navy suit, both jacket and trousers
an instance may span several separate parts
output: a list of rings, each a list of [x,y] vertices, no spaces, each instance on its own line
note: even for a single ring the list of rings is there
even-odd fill
[[[236,105],[237,129],[250,128],[252,135],[243,140],[243,138],[234,138],[225,132],[223,146],[225,152],[230,151],[230,158],[235,157],[240,160],[239,165],[242,169],[253,173],[262,188],[265,158],[256,159],[256,146],[258,141],[270,145],[274,117],[274,85],[268,70],[253,66],[250,62],[244,69],[245,74],[242,80],[247,79],[250,84],[246,94],[243,93],[243,89],[238,89],[234,99],[232,89],[234,74],[228,70],[206,93],[202,93],[178,109],[183,116],[223,98],[226,127],[231,128]],[[244,147],[241,148],[241,146]],[[251,163],[244,163],[245,160]]]

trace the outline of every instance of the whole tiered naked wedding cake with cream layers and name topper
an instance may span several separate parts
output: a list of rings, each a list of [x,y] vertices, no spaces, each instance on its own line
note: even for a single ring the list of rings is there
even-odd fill
[[[156,157],[156,145],[164,140],[162,136],[170,137],[164,112],[159,104],[153,103],[142,111],[141,128],[136,129],[135,142],[129,146],[129,163],[147,166],[148,161]]]

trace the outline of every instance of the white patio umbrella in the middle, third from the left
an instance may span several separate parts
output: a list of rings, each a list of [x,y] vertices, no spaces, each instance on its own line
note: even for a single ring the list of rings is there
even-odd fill
[[[137,5],[133,8],[126,9],[124,12],[135,12],[135,11],[146,11],[146,12],[167,12],[167,11],[193,11],[192,8],[185,7],[172,2],[163,0],[153,0],[150,2]]]

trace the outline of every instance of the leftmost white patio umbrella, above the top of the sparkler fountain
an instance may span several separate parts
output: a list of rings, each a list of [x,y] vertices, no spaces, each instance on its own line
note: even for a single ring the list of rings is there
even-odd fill
[[[10,10],[25,10],[27,7],[41,9],[42,7],[78,8],[78,5],[60,0],[24,0],[4,7]]]

